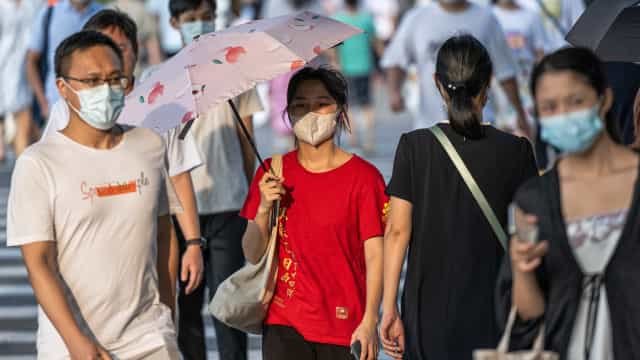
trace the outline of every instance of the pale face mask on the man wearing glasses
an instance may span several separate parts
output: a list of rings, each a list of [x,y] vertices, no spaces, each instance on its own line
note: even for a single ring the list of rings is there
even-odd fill
[[[78,96],[80,110],[70,102],[67,103],[84,122],[99,130],[109,130],[116,124],[124,107],[122,88],[102,84],[94,88],[76,91],[69,83],[66,81],[65,83]]]

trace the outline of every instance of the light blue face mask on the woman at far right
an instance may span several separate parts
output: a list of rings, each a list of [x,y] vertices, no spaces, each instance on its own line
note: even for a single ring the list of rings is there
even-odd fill
[[[604,129],[599,111],[600,106],[596,105],[586,110],[543,117],[540,136],[565,154],[584,152]]]

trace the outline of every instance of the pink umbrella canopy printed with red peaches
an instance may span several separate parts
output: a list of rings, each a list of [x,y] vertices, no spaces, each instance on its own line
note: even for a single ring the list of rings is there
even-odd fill
[[[166,132],[360,32],[305,11],[204,34],[127,96],[118,121]]]

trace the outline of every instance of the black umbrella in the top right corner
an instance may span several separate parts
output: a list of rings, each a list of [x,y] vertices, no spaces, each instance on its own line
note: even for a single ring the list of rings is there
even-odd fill
[[[640,62],[638,0],[595,0],[567,35],[575,46],[587,47],[603,61]]]

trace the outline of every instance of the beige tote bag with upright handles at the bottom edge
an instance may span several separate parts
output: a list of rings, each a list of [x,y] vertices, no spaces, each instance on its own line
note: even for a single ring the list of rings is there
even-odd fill
[[[476,350],[474,360],[560,360],[560,356],[552,351],[544,351],[544,325],[540,326],[538,336],[533,342],[533,349],[509,352],[509,338],[516,322],[516,308],[511,308],[507,328],[504,330],[498,348],[493,350]]]

